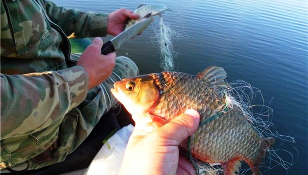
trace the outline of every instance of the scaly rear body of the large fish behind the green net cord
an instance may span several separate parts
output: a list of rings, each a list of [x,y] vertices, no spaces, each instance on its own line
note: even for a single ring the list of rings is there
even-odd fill
[[[197,129],[196,133],[191,136],[196,137],[197,141],[190,144],[190,151],[195,157],[209,163],[227,162],[233,157],[242,157],[252,161],[256,159],[258,148],[261,147],[261,137],[254,132],[248,122],[234,113],[238,112],[229,111]],[[239,117],[238,120],[234,119],[237,117]],[[237,134],[239,131],[241,131],[240,135]],[[181,147],[187,150],[187,141],[181,144]],[[217,151],[222,148],[228,149]],[[203,157],[210,157],[210,160]]]

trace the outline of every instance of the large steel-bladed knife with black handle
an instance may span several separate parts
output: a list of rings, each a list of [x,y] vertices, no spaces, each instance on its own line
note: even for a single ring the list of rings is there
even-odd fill
[[[136,36],[141,33],[145,28],[147,28],[152,22],[152,18],[147,18],[143,21],[140,21],[133,26],[127,28],[125,31],[115,36],[113,39],[105,43],[101,49],[103,55],[107,55],[111,52],[114,52],[115,49],[120,48],[120,46],[126,42],[128,39]]]

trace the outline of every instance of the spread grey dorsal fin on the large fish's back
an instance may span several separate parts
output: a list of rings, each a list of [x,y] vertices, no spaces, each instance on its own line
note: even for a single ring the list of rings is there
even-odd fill
[[[206,68],[204,71],[199,72],[197,77],[209,85],[225,86],[227,73],[222,67],[211,66]]]

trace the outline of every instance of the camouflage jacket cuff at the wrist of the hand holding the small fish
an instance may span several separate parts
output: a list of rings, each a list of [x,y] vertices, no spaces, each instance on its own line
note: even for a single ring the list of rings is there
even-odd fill
[[[90,35],[91,37],[103,37],[107,35],[108,14],[90,14]]]

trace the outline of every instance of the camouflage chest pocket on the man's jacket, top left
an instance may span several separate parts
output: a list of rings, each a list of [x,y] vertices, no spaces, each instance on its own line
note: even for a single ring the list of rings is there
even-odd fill
[[[34,0],[3,1],[17,55],[36,48],[50,35],[51,26],[43,8]]]

